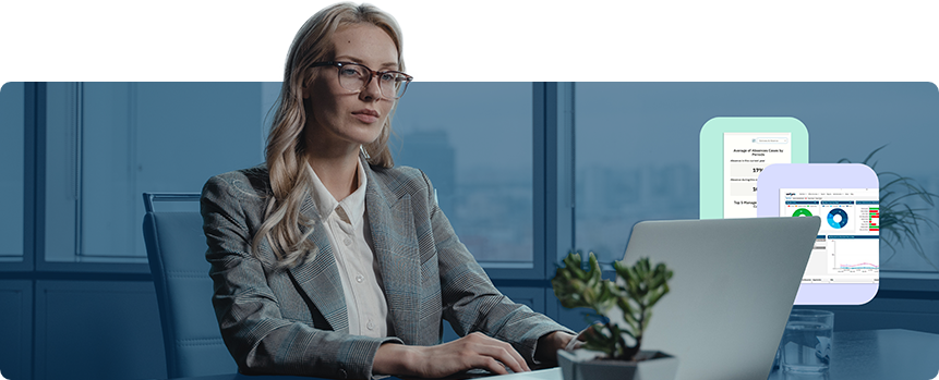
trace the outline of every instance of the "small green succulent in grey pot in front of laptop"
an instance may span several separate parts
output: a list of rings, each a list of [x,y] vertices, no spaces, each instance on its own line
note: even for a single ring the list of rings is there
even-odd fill
[[[551,280],[554,294],[566,308],[586,307],[602,319],[590,326],[581,348],[561,350],[557,360],[565,380],[673,379],[678,359],[662,352],[641,351],[642,333],[649,326],[652,306],[669,293],[672,270],[664,263],[652,267],[648,257],[634,266],[614,261],[618,281],[601,279],[593,253],[589,269],[581,268],[580,253],[570,253]],[[625,326],[610,319],[610,310],[623,311]],[[627,339],[631,345],[627,344]]]

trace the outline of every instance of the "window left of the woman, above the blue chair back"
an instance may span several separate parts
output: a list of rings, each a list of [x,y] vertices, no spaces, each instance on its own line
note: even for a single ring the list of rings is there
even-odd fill
[[[263,162],[258,82],[48,82],[45,260],[146,262],[143,198]]]

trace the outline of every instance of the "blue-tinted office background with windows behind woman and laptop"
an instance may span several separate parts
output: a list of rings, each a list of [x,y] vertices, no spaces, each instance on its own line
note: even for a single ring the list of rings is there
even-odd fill
[[[0,375],[167,377],[141,194],[200,193],[212,175],[263,163],[278,90],[276,81],[0,87]],[[417,81],[389,145],[396,164],[429,175],[504,294],[579,330],[591,317],[558,304],[555,266],[581,250],[609,270],[636,222],[697,219],[698,138],[711,118],[796,118],[809,162],[872,152],[876,172],[939,194],[937,105],[930,82]],[[939,333],[939,225],[929,222],[939,206],[929,199],[896,206],[923,218],[911,235],[881,233],[874,299],[811,307],[834,311],[835,331]]]

